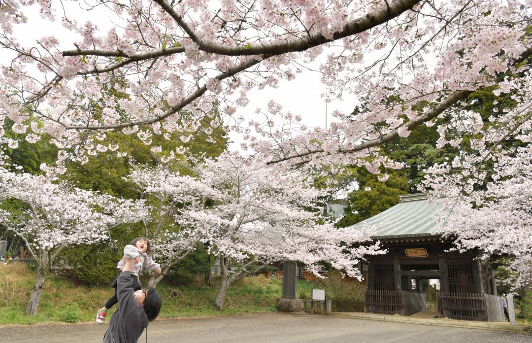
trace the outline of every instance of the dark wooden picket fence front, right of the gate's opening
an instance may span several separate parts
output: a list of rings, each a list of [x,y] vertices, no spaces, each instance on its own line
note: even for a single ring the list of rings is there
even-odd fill
[[[438,317],[487,321],[486,300],[480,293],[436,293]]]

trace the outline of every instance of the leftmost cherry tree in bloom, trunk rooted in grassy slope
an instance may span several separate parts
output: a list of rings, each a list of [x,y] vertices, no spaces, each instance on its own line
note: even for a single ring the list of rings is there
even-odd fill
[[[148,215],[142,202],[73,189],[43,176],[12,174],[2,179],[3,189],[6,184],[10,189],[2,199],[15,200],[20,208],[2,210],[0,223],[22,238],[37,263],[37,280],[26,314],[37,315],[46,276],[64,248],[109,239],[109,228]]]

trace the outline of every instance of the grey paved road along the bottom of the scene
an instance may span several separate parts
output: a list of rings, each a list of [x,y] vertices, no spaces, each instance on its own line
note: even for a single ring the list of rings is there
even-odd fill
[[[99,343],[106,328],[92,323],[0,326],[0,342]],[[513,332],[290,314],[156,320],[148,329],[152,343],[532,342],[531,336]]]

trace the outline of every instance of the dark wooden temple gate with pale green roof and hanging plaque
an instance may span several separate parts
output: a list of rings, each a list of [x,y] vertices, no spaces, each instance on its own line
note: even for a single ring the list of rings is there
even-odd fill
[[[365,311],[412,315],[426,311],[425,290],[438,287],[435,316],[463,320],[503,321],[495,273],[480,252],[455,250],[451,238],[435,233],[438,205],[427,193],[402,195],[397,205],[352,225],[382,224],[373,241],[387,252],[367,256]]]

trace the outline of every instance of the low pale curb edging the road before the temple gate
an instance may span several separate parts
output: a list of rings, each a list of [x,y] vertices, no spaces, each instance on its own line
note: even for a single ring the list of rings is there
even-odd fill
[[[361,312],[333,312],[330,315],[336,317],[367,319],[381,322],[409,323],[433,326],[452,326],[454,328],[506,331],[528,334],[528,332],[525,330],[527,326],[510,326],[502,323],[459,321],[445,318],[419,318],[400,315],[368,314]]]

